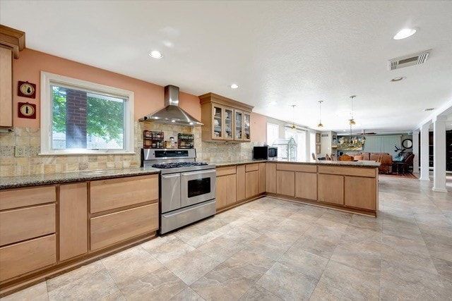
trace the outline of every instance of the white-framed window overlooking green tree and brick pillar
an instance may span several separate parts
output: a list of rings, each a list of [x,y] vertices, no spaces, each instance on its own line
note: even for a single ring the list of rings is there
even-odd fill
[[[40,154],[134,154],[133,92],[41,72]]]

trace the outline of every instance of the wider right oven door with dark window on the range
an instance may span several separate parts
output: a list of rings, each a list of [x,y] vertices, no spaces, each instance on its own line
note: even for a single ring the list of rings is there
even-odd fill
[[[181,207],[215,199],[215,169],[190,171],[181,174]]]

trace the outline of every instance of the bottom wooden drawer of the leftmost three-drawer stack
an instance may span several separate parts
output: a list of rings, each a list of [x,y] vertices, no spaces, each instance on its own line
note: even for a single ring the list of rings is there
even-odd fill
[[[0,247],[0,281],[54,264],[56,253],[54,234]]]

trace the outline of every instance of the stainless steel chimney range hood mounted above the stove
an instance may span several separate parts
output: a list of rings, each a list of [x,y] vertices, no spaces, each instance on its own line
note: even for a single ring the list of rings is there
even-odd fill
[[[139,121],[155,121],[184,126],[201,126],[203,123],[196,120],[186,111],[179,108],[179,87],[167,85],[165,87],[165,108],[139,119]]]

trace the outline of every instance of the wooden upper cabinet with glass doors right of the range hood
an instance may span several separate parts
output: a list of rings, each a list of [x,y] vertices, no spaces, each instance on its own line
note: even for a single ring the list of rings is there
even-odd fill
[[[253,106],[217,94],[199,97],[203,141],[251,141]]]

